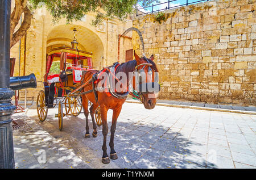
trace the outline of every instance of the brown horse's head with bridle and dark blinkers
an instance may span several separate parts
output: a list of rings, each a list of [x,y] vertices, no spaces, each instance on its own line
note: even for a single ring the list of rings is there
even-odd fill
[[[137,66],[135,68],[135,87],[141,95],[141,101],[146,109],[152,109],[156,104],[156,97],[160,90],[158,83],[158,69],[153,62],[154,56],[140,58],[134,51]]]

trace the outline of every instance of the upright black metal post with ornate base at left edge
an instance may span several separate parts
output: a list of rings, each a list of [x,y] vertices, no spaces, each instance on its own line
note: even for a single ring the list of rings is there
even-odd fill
[[[14,91],[10,89],[10,15],[11,0],[0,0],[0,168],[14,168],[11,103]]]

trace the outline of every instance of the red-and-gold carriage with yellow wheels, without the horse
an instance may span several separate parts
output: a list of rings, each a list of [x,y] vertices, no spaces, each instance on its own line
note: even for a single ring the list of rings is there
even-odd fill
[[[36,99],[40,121],[46,120],[48,108],[55,108],[58,105],[58,114],[55,117],[59,119],[61,131],[64,116],[78,116],[83,113],[81,95],[70,93],[80,86],[82,72],[89,70],[93,70],[92,53],[68,47],[53,48],[49,51],[43,82],[44,90],[39,91]],[[95,119],[97,124],[101,125],[99,108]]]

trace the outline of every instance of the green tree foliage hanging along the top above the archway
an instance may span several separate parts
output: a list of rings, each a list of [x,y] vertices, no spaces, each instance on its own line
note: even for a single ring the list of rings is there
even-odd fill
[[[88,12],[95,12],[96,18],[92,24],[96,26],[104,18],[119,20],[127,18],[135,10],[137,3],[142,7],[151,5],[158,0],[28,0],[30,8],[36,9],[43,5],[49,10],[56,22],[61,18],[66,18],[68,22],[81,20]],[[102,11],[103,10],[103,11]]]

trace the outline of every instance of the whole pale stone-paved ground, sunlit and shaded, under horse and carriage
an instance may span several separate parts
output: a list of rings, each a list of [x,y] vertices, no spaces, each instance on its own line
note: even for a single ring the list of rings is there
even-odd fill
[[[29,131],[14,131],[16,167],[28,167],[22,166],[24,157],[19,152],[22,149],[23,154],[29,150],[34,157],[36,165],[28,168],[45,167],[36,162],[35,155],[42,144],[34,143],[32,148],[22,146],[23,142],[32,142],[31,139],[37,137],[43,140],[43,149],[49,156],[46,168],[256,168],[256,115],[164,106],[146,110],[142,104],[125,103],[115,131],[118,159],[104,165],[101,163],[102,127],[98,127],[96,138],[85,139],[85,116],[81,114],[64,117],[64,129],[60,132],[56,113],[57,109],[49,109],[45,122],[39,122],[36,110],[32,109],[26,115],[14,115],[14,119],[22,118],[42,130],[42,134],[34,136]],[[108,122],[110,129],[112,110],[109,110]],[[90,117],[89,126],[92,133]],[[20,133],[23,136],[17,137]],[[110,132],[108,142],[109,139]],[[51,146],[69,152],[69,161],[63,158],[61,151],[57,150],[55,156]],[[62,165],[64,162],[67,165]]]

